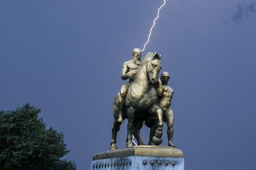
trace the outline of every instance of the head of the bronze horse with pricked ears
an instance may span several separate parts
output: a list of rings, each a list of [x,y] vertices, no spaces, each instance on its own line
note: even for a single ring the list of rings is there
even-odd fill
[[[159,71],[162,68],[161,55],[157,52],[148,53],[145,56],[147,61],[146,72],[150,83],[156,84],[158,82]],[[144,59],[143,59],[144,62]]]

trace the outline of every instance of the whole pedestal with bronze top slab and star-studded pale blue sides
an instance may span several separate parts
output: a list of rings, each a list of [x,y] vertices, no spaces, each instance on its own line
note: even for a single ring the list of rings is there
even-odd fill
[[[134,146],[93,155],[91,170],[184,170],[181,150],[170,146]]]

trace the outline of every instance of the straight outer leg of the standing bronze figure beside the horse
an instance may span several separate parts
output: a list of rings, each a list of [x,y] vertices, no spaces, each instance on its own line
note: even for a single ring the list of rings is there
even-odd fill
[[[173,138],[173,121],[174,121],[174,114],[172,111],[172,108],[169,108],[165,113],[164,117],[167,122],[167,136],[168,136],[168,146],[175,146],[172,143],[172,138]]]

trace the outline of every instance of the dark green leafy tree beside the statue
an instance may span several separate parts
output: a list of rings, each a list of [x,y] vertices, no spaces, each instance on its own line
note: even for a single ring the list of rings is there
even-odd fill
[[[38,118],[40,109],[30,104],[0,111],[0,169],[76,169],[67,155],[65,135]]]

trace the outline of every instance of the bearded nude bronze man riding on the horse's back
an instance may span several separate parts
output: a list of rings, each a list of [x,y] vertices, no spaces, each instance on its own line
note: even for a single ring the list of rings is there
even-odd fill
[[[118,96],[118,122],[123,122],[124,118],[122,116],[124,111],[124,99],[127,94],[127,90],[129,89],[131,83],[135,80],[135,76],[138,72],[138,69],[141,64],[141,50],[139,48],[134,48],[132,50],[132,59],[124,62],[122,68],[122,76],[123,80],[130,79],[128,83],[122,85],[120,89],[120,95]]]

